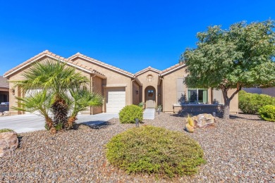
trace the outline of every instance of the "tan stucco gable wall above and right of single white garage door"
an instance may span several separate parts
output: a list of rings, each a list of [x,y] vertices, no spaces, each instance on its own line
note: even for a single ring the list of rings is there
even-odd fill
[[[88,68],[92,68],[93,70],[97,70],[97,72],[102,73],[102,75],[105,75],[107,77],[106,80],[103,81],[103,85],[106,85],[107,87],[109,85],[126,85],[126,106],[131,104],[132,101],[132,89],[131,89],[131,77],[126,76],[122,73],[116,72],[114,70],[111,70],[109,68],[104,68],[102,65],[98,65],[96,63],[91,63],[90,61],[87,61],[83,58],[75,58],[73,59],[75,63],[80,63],[82,65],[87,66]]]

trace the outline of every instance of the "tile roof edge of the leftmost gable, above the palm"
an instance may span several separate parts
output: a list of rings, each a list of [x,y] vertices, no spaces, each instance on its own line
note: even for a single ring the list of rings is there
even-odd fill
[[[6,77],[8,74],[11,74],[11,72],[13,72],[13,71],[15,71],[15,70],[17,70],[17,69],[19,69],[19,68],[25,67],[26,64],[30,64],[30,63],[32,63],[32,61],[35,61],[35,59],[37,59],[37,58],[39,58],[39,57],[42,57],[42,56],[52,56],[52,57],[56,58],[56,60],[64,61],[64,62],[66,62],[66,63],[68,63],[68,64],[70,64],[70,65],[78,66],[78,67],[80,67],[80,68],[82,68],[82,69],[85,69],[85,70],[88,70],[88,71],[90,71],[90,72],[97,72],[97,70],[94,70],[94,69],[92,69],[92,68],[89,68],[89,67],[87,67],[87,66],[85,66],[85,65],[82,65],[82,64],[80,64],[80,63],[73,62],[73,61],[71,61],[71,60],[69,60],[69,59],[67,59],[67,58],[63,58],[62,56],[58,56],[58,55],[56,55],[56,54],[54,54],[54,53],[51,53],[51,52],[48,51],[48,50],[45,50],[45,51],[43,51],[43,52],[37,54],[36,56],[34,56],[34,57],[28,59],[27,61],[21,63],[20,65],[16,66],[15,68],[12,68],[11,70],[8,70],[8,72],[6,72],[6,73],[4,74],[4,77]],[[103,75],[103,74],[100,73],[100,72],[97,72],[97,73],[100,74],[100,75]],[[104,76],[104,75],[103,75],[103,76]]]

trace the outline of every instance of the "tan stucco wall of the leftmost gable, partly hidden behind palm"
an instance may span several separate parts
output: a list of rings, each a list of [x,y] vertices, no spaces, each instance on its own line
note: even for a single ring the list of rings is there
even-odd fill
[[[44,56],[43,58],[41,58],[39,61],[43,62],[46,61],[48,57]],[[16,80],[24,80],[24,77],[22,76],[23,72],[25,72],[26,70],[28,70],[30,68],[30,65],[27,65],[25,68],[18,70],[17,72],[13,73],[12,75],[8,76],[8,81],[16,81]],[[90,73],[88,72],[84,72],[83,70],[80,70],[78,68],[76,68],[77,72],[80,72],[81,75],[87,77],[90,80]],[[12,82],[9,83],[9,88],[12,89],[14,86],[14,84]],[[13,95],[10,91],[9,94],[9,102],[10,102],[10,113],[11,115],[16,115],[16,114],[23,114],[23,112],[21,111],[15,111],[13,109],[11,109],[12,106],[18,106],[17,104],[17,100],[16,100],[16,96],[20,96],[22,97],[24,94],[20,91],[20,89],[18,89],[18,87],[14,88],[15,89],[15,95]]]

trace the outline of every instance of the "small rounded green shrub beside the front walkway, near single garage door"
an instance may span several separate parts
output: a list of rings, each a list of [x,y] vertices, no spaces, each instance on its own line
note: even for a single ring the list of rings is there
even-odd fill
[[[135,118],[138,118],[140,121],[143,120],[143,110],[139,106],[125,106],[119,112],[119,120],[121,123],[135,123]]]

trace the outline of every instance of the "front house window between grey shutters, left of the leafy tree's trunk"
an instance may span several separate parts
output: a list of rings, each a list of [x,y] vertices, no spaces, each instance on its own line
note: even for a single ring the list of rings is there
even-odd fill
[[[208,90],[188,89],[188,101],[190,103],[208,103]]]

